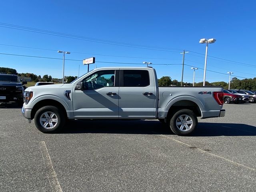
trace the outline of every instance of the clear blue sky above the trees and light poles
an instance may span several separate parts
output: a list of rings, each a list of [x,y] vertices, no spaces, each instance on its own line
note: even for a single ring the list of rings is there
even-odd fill
[[[15,68],[19,73],[30,72],[41,76],[48,74],[62,78],[62,60],[6,54],[61,59],[62,54],[57,53],[57,50],[65,50],[71,52],[66,55],[66,59],[82,60],[95,56],[97,68],[144,66],[143,61],[152,62],[158,78],[170,76],[172,80],[180,81],[180,52],[185,49],[189,53],[185,55],[183,81],[192,82],[191,66],[204,68],[206,45],[199,43],[200,38],[216,38],[216,43],[209,44],[208,47],[208,56],[216,58],[208,57],[207,62],[207,70],[215,72],[207,71],[206,81],[228,82],[228,71],[234,72],[234,76],[239,76],[239,79],[254,78],[255,6],[256,2],[253,0],[3,1],[0,6],[0,53],[3,53],[0,54],[0,67]],[[6,28],[6,24],[144,47],[127,44],[117,46],[109,42],[91,42],[92,39],[88,41],[40,34],[12,29],[13,27]],[[79,65],[80,75],[84,74],[87,66],[83,66],[82,61],[65,60],[65,76],[78,76]],[[90,66],[90,70],[93,68],[95,65]],[[196,82],[203,81],[203,73],[204,70],[201,69],[196,71]]]

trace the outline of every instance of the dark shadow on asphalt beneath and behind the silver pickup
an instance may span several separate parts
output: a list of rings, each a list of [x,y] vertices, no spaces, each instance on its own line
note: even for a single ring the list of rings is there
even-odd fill
[[[172,131],[157,120],[75,120],[70,121],[62,134],[164,134]],[[198,127],[187,136],[256,136],[256,127],[235,123],[198,123]]]

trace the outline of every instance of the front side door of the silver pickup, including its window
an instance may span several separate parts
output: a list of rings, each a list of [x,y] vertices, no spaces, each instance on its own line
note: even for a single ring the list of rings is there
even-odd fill
[[[84,90],[75,88],[72,96],[74,118],[118,118],[118,76],[119,70],[98,70],[80,81]]]

